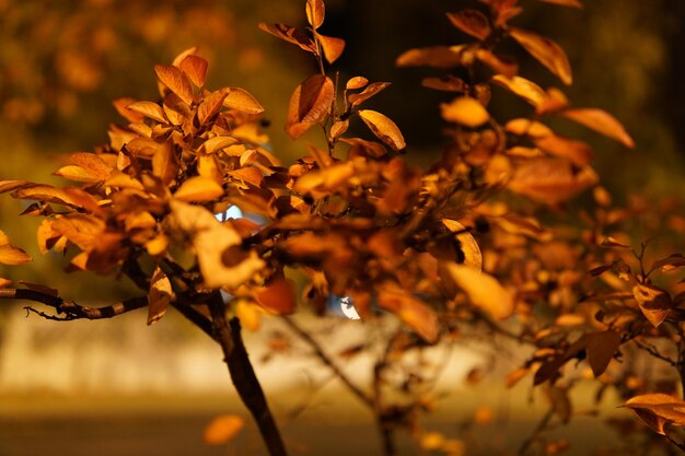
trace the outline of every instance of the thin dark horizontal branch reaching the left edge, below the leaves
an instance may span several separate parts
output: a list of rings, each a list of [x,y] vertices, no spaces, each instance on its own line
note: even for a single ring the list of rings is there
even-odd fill
[[[148,305],[147,296],[138,296],[105,307],[88,307],[77,304],[73,301],[65,301],[61,297],[49,293],[27,289],[1,289],[0,299],[33,301],[45,304],[55,308],[58,315],[62,313],[65,314],[63,317],[55,316],[55,318],[50,318],[58,320],[112,318]],[[43,317],[46,316],[46,314],[42,312],[35,313]]]

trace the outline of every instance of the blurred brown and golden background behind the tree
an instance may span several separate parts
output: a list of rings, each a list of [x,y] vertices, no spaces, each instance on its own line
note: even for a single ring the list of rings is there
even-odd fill
[[[576,81],[564,89],[570,100],[613,113],[637,147],[625,150],[573,125],[560,128],[594,147],[595,167],[618,201],[631,194],[683,195],[685,2],[585,3],[584,10],[574,10],[522,0],[525,12],[514,22],[567,50]],[[423,77],[440,72],[397,69],[394,60],[410,47],[468,40],[444,12],[476,5],[475,0],[326,2],[322,33],[347,40],[334,70],[341,80],[364,75],[393,82],[370,107],[397,122],[409,144],[408,160],[418,165],[441,153],[438,104],[450,95],[420,86]],[[63,163],[62,155],[106,142],[107,126],[121,121],[111,102],[123,96],[155,100],[153,65],[171,62],[191,46],[210,61],[208,87],[241,86],[260,101],[275,154],[292,163],[304,152],[304,142],[285,135],[286,107],[294,87],[315,71],[315,62],[258,31],[258,22],[304,26],[304,1],[0,0],[0,179],[57,183],[50,173]],[[507,51],[520,59],[522,75],[543,86],[559,85],[516,46]],[[506,100],[503,109],[520,103],[502,91],[496,96]],[[318,141],[315,133],[306,139]],[[63,273],[59,256],[42,257],[35,248],[38,220],[18,220],[21,203],[7,196],[0,201],[0,227],[36,259],[0,267],[0,277],[59,288],[62,295],[86,303],[107,303],[131,292],[127,283],[108,278]],[[363,332],[353,321],[347,325],[353,334]],[[348,443],[339,454],[353,448],[363,454],[375,445],[371,417],[344,390],[329,383],[323,389],[311,386],[324,375],[314,362],[297,356],[262,362],[275,331],[283,331],[278,320],[265,326],[248,335],[248,347],[254,347],[265,389],[275,397],[277,416],[290,417],[301,404],[312,402],[306,413],[294,413],[298,418],[286,430],[294,453],[321,454],[316,445],[329,447],[332,439]],[[338,348],[336,340],[326,339],[332,350]],[[464,378],[480,360],[477,350],[458,349],[450,360],[445,382],[468,391]],[[363,376],[363,363],[350,369]],[[299,395],[278,394],[283,390]],[[484,397],[499,406],[504,400],[499,394]],[[433,417],[436,425],[452,425],[454,413],[468,417],[475,407],[445,406]],[[173,315],[151,328],[136,313],[112,321],[56,324],[26,319],[20,306],[0,303],[0,456],[48,449],[54,455],[90,455],[94,448],[107,455],[143,455],[158,453],[162,442],[167,455],[259,454],[254,431],[228,449],[202,446],[204,425],[231,410],[244,414],[229,388],[219,350]],[[515,441],[515,430],[512,435]]]

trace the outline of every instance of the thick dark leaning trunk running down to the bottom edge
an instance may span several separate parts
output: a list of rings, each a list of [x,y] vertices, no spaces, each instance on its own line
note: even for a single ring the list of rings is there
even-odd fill
[[[214,337],[221,344],[224,361],[239,396],[257,423],[269,455],[287,456],[280,431],[247,356],[239,319],[232,318],[230,323],[227,320],[225,304],[219,293],[216,293],[208,304]]]

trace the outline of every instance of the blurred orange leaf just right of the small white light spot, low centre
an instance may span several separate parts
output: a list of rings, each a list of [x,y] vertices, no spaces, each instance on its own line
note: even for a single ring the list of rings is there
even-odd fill
[[[384,283],[379,292],[379,305],[397,315],[429,343],[438,341],[439,321],[436,312],[395,283]]]

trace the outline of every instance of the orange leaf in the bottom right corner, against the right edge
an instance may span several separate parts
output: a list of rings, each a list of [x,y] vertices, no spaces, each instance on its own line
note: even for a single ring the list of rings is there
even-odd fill
[[[664,394],[648,394],[628,399],[624,407],[629,408],[652,431],[665,435],[666,425],[685,425],[685,401]]]

